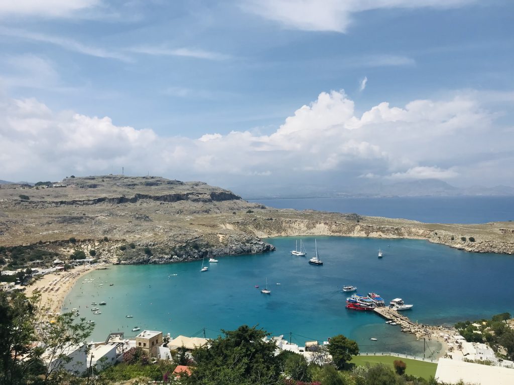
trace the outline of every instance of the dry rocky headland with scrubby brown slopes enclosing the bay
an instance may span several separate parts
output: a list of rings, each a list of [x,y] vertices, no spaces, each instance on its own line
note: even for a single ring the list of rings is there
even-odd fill
[[[443,225],[274,209],[202,182],[102,176],[0,188],[0,246],[38,244],[63,257],[81,249],[111,261],[170,263],[263,253],[274,249],[263,238],[302,235],[426,239],[514,253],[512,222]]]

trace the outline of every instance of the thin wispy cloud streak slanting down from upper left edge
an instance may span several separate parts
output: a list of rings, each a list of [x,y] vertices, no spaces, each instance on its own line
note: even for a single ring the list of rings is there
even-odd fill
[[[22,40],[33,41],[33,42],[41,42],[56,45],[58,47],[64,48],[68,51],[82,53],[84,55],[96,56],[96,57],[104,57],[109,59],[118,59],[125,62],[130,61],[130,58],[124,54],[121,54],[116,51],[106,50],[103,48],[88,46],[77,42],[75,40],[71,40],[66,37],[47,35],[44,33],[36,33],[30,32],[23,29],[16,28],[6,28],[0,27],[0,35],[10,36],[14,38],[19,38]]]

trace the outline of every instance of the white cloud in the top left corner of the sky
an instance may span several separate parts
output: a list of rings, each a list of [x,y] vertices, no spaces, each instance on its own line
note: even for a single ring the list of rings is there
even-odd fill
[[[100,0],[5,0],[0,2],[0,17],[11,15],[65,17],[99,4]]]

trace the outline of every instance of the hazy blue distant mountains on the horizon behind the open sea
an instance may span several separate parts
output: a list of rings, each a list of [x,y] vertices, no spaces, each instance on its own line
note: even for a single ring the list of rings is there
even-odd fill
[[[339,188],[323,184],[301,186],[254,185],[231,186],[244,199],[320,198],[320,197],[421,197],[421,196],[514,196],[510,186],[455,187],[438,179],[402,181],[390,184],[363,182],[357,186]]]

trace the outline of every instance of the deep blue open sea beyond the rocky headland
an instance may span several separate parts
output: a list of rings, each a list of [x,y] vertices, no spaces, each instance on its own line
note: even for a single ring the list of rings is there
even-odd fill
[[[394,197],[259,199],[276,208],[315,209],[427,223],[486,223],[514,220],[514,197]]]

